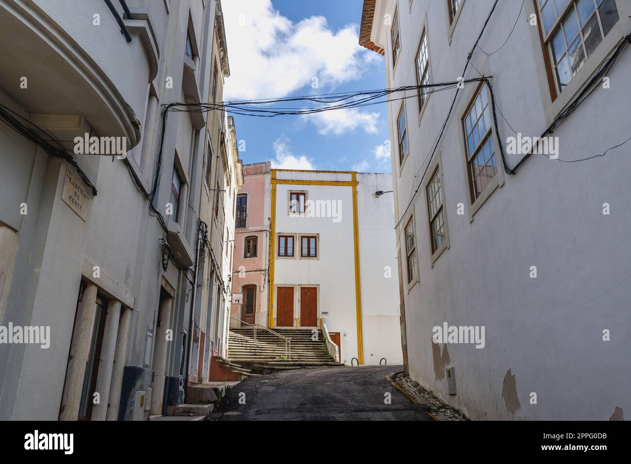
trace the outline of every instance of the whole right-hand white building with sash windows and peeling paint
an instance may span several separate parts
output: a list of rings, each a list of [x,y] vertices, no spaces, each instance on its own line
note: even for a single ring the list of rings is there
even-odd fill
[[[484,28],[494,4],[363,5],[389,88],[461,80],[388,104],[406,371],[471,419],[622,419],[631,184],[608,148],[631,132],[631,3],[499,1]],[[583,95],[546,152],[515,150]]]

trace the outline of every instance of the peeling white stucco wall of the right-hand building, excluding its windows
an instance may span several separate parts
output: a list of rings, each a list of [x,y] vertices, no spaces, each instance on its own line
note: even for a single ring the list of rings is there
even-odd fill
[[[396,3],[402,42],[396,69],[390,61],[387,31],[380,37],[389,86],[416,82],[414,58],[423,27],[428,31],[432,80],[453,81],[461,76],[492,0],[465,0],[451,40],[445,2],[415,0],[411,11],[408,0],[377,2],[375,14],[393,13]],[[622,30],[628,33],[628,2],[617,4]],[[495,51],[504,44],[519,6],[520,2],[498,4],[481,49]],[[536,29],[527,21],[532,13],[533,2],[526,0],[504,47],[490,57],[476,50],[472,59],[481,73],[493,76],[500,109],[524,136],[543,132],[551,108],[541,46]],[[625,81],[630,71],[627,48],[609,74],[611,88],[598,88],[555,129],[561,159],[601,154],[627,139],[631,92]],[[464,77],[476,76],[469,66]],[[410,208],[415,215],[420,275],[410,289],[404,285],[410,375],[471,419],[607,420],[616,407],[626,417],[631,382],[631,318],[625,309],[631,277],[628,148],[572,164],[533,156],[516,175],[504,174],[503,186],[470,222],[460,118],[472,91],[472,86],[461,90],[433,158],[442,164],[450,240],[433,266],[423,187]],[[402,170],[396,148],[392,150],[401,215],[420,182],[427,165],[423,162],[453,96],[454,90],[431,95],[420,121],[416,98],[405,100],[410,156]],[[400,101],[389,104],[393,147],[400,105]],[[498,118],[498,140],[505,146],[514,133],[499,114]],[[519,158],[508,155],[507,162],[514,166]],[[464,215],[457,215],[458,203],[464,204]],[[611,215],[603,215],[603,203],[610,203]],[[403,232],[401,241],[404,250]],[[529,277],[531,266],[537,266],[537,278]],[[444,322],[485,326],[485,348],[433,345],[432,327]],[[611,331],[609,342],[603,341],[606,329]],[[455,367],[455,396],[447,392],[445,366]],[[503,396],[509,369],[520,402],[515,412],[510,412]],[[532,392],[538,396],[536,404],[529,402]]]

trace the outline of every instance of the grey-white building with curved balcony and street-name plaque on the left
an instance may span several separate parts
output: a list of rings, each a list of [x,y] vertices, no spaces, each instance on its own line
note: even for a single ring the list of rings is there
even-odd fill
[[[50,334],[0,340],[0,419],[184,401],[207,118],[162,116],[212,98],[222,25],[219,0],[0,1],[0,326]]]

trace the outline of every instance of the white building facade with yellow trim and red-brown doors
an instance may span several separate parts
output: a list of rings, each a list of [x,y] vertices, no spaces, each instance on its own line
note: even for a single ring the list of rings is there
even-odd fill
[[[271,170],[268,326],[326,329],[345,364],[401,364],[387,174]]]

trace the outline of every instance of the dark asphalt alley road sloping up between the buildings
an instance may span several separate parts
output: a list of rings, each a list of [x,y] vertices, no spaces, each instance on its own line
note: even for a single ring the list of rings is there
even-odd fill
[[[401,369],[330,367],[249,378],[230,391],[209,420],[433,420],[386,379]]]

